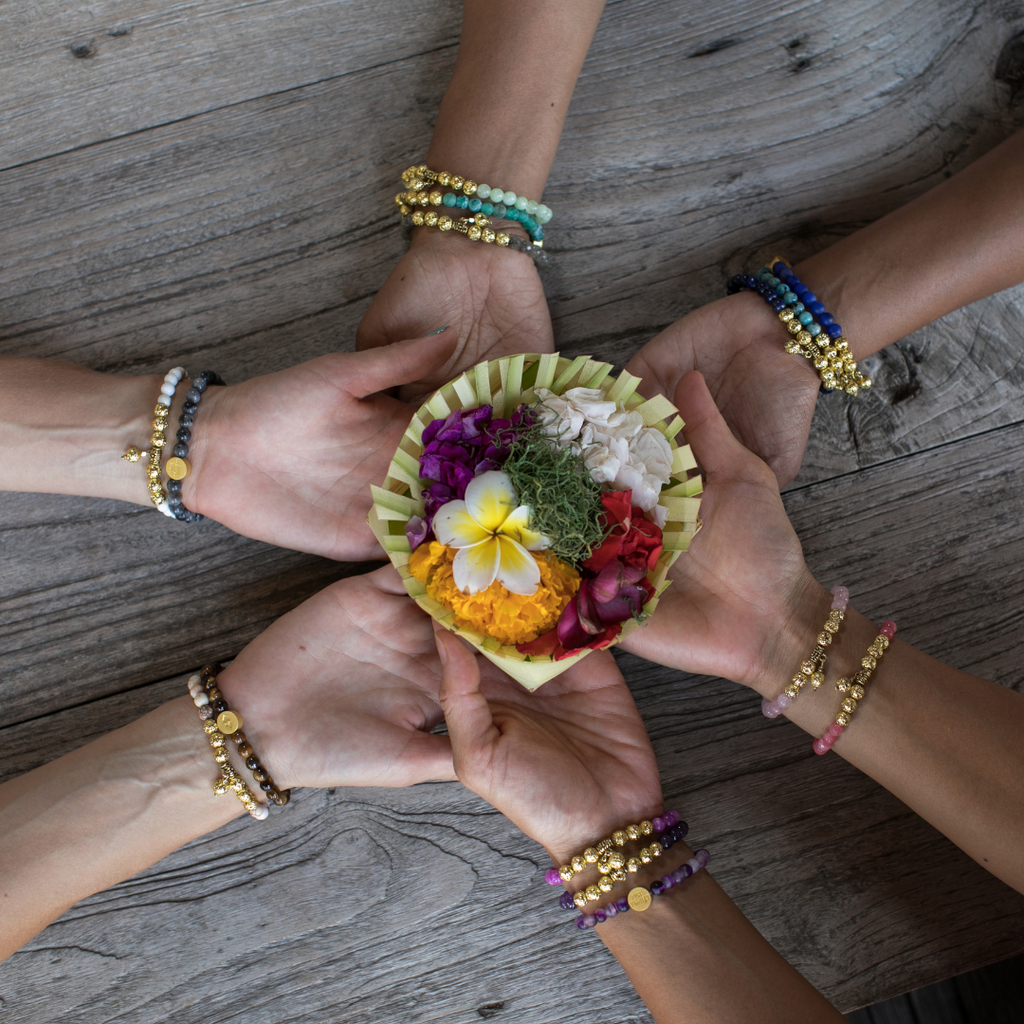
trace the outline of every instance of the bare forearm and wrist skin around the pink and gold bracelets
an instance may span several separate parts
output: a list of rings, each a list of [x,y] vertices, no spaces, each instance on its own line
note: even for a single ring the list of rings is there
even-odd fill
[[[813,644],[829,598],[763,695],[774,698]],[[814,623],[811,626],[811,623]],[[840,711],[835,681],[860,668],[878,626],[850,609],[829,648],[825,683],[784,712],[820,736]],[[942,665],[897,637],[834,751],[884,785],[987,870],[1024,892],[1024,697]],[[827,756],[827,755],[825,755]]]

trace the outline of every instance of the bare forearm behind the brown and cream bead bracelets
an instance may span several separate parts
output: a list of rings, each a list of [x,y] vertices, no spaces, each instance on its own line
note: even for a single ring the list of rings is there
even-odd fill
[[[182,697],[0,785],[0,959],[69,907],[242,813]]]

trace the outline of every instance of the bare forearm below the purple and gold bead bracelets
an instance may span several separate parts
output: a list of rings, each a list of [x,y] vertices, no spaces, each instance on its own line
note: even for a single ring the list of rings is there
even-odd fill
[[[662,873],[690,856],[674,847]],[[669,858],[671,857],[671,861]],[[653,866],[653,865],[652,865]],[[641,884],[649,885],[653,876]],[[843,1018],[707,871],[597,926],[658,1024],[800,1024]]]

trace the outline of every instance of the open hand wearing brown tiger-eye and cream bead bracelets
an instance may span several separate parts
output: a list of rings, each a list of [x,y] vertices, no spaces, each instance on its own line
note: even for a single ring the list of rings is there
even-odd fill
[[[217,685],[282,788],[453,779],[430,618],[386,565],[279,618]]]

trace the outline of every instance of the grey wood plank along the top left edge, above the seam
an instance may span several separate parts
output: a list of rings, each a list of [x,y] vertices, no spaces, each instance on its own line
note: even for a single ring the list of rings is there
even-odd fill
[[[412,0],[59,0],[5,4],[0,167],[431,50],[455,4]]]

